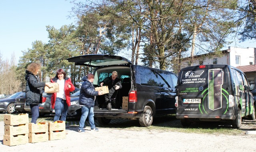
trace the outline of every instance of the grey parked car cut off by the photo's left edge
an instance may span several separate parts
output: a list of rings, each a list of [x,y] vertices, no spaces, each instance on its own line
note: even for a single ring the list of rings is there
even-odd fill
[[[14,93],[13,95],[0,99],[0,113],[2,112],[16,113],[14,103],[15,103],[15,98],[18,97],[20,93],[22,92],[17,92],[17,93]]]

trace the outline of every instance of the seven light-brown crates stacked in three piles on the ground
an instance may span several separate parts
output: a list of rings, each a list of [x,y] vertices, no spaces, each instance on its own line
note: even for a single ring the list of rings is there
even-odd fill
[[[4,114],[4,145],[15,146],[65,138],[65,121],[34,124],[28,123],[28,114]]]

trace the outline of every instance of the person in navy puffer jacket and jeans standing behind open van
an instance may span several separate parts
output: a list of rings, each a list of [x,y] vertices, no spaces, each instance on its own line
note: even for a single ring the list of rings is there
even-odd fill
[[[82,109],[82,115],[79,122],[78,132],[85,132],[84,130],[84,122],[89,115],[89,123],[91,130],[98,131],[99,129],[96,128],[94,124],[94,102],[97,95],[102,95],[102,91],[95,91],[93,81],[94,75],[89,73],[87,77],[83,77],[82,79],[83,84],[80,88],[80,95],[79,95],[79,105]]]

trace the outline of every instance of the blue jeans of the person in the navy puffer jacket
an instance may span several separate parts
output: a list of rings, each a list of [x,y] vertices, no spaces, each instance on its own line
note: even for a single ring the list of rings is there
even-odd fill
[[[79,129],[83,129],[84,128],[84,123],[85,120],[89,114],[89,123],[91,126],[91,129],[95,128],[95,124],[94,124],[94,112],[93,112],[93,107],[86,107],[86,106],[81,106],[82,109],[82,115],[80,118],[80,122],[79,122]]]

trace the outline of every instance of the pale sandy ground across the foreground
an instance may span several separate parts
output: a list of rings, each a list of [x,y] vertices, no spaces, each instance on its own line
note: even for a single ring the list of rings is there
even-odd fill
[[[87,127],[89,129],[89,127]],[[256,152],[256,134],[213,135],[182,132],[116,130],[77,132],[67,127],[66,139],[3,145],[4,122],[0,121],[1,152]]]

